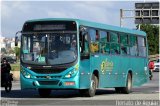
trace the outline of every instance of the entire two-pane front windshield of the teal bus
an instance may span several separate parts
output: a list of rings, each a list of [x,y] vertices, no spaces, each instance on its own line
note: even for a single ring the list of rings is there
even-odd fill
[[[58,65],[77,58],[76,33],[36,33],[22,35],[21,59],[24,63]]]

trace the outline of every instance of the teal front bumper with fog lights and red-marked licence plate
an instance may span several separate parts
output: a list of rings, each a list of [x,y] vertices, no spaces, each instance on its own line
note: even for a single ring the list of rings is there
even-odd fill
[[[79,77],[69,79],[28,79],[20,74],[21,89],[79,89]]]

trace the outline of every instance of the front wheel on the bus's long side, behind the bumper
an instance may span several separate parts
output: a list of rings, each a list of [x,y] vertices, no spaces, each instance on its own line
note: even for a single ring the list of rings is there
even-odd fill
[[[81,89],[81,96],[93,97],[96,93],[98,78],[93,74],[89,89]]]

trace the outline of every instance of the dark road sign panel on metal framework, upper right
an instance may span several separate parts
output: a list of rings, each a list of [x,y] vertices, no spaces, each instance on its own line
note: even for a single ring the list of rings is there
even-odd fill
[[[159,24],[159,2],[135,3],[135,24]]]

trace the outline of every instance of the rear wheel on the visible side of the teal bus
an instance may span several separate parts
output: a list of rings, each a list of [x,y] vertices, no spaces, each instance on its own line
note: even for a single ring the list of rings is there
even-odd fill
[[[122,93],[129,94],[131,93],[131,89],[132,89],[132,77],[131,74],[129,73],[127,76],[126,87],[122,87],[121,91]]]

